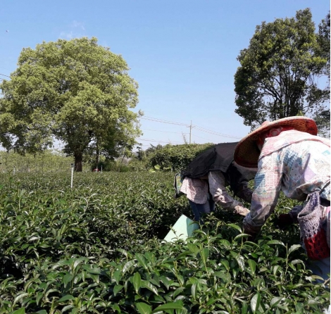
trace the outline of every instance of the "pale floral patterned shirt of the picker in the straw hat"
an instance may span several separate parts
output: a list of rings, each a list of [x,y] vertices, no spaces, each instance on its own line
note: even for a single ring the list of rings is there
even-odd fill
[[[322,190],[327,182],[330,182],[330,140],[295,130],[266,139],[244,230],[256,233],[261,229],[273,213],[280,191],[290,199],[304,201],[307,194]],[[330,201],[330,184],[320,196]]]

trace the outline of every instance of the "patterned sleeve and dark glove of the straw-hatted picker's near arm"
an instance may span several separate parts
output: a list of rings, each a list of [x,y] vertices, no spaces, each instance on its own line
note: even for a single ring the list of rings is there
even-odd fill
[[[243,221],[246,233],[257,233],[273,213],[280,196],[281,182],[282,163],[277,152],[261,158],[254,180],[251,212]]]

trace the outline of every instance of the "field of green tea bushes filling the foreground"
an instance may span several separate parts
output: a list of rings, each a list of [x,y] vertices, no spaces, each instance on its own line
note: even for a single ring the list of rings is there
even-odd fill
[[[0,174],[0,313],[323,313],[299,229],[255,242],[220,208],[186,242],[173,173]],[[295,203],[281,199],[276,213]],[[248,206],[248,205],[247,205]]]

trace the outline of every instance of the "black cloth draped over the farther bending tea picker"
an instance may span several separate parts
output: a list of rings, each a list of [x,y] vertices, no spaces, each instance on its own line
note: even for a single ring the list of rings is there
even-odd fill
[[[210,171],[220,170],[236,195],[244,182],[253,180],[256,169],[244,168],[233,160],[233,153],[238,142],[220,143],[200,153],[182,170],[182,177],[196,179],[204,177]]]

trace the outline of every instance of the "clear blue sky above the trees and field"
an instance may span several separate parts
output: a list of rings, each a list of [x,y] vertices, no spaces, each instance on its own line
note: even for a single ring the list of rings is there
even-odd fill
[[[135,111],[154,119],[141,120],[143,149],[189,141],[185,125],[191,121],[192,142],[236,142],[249,132],[235,113],[239,51],[262,21],[292,17],[304,8],[311,8],[318,27],[330,1],[2,0],[0,73],[15,70],[24,47],[94,36],[125,58],[139,84]]]

